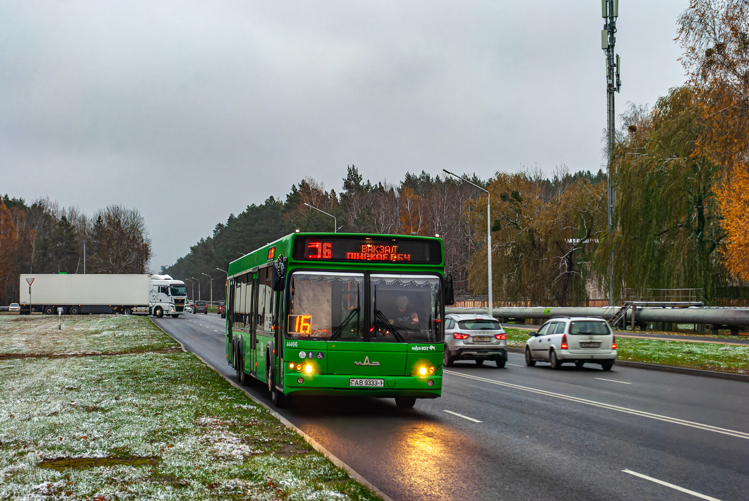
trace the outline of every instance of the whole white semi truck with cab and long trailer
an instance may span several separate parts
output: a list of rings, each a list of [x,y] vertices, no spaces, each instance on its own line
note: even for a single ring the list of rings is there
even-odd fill
[[[20,277],[21,314],[123,313],[172,315],[185,311],[187,287],[169,275],[29,273]]]

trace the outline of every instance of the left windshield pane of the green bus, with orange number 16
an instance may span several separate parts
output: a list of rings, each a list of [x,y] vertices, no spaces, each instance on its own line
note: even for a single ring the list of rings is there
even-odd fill
[[[361,273],[294,273],[286,337],[363,341],[363,287]]]

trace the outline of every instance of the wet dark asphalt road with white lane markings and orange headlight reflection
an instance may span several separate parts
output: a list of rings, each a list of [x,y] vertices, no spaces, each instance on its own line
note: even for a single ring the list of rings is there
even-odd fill
[[[218,315],[154,321],[234,379]],[[248,391],[270,405],[262,386]],[[297,398],[278,411],[397,501],[749,500],[749,385],[739,381],[553,371],[510,353],[503,369],[449,368],[442,398],[412,410]]]

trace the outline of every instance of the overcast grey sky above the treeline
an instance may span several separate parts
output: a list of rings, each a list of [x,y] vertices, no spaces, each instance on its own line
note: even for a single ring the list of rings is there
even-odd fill
[[[621,0],[627,101],[687,0]],[[154,270],[312,176],[601,167],[600,0],[0,2],[0,193],[137,207]]]

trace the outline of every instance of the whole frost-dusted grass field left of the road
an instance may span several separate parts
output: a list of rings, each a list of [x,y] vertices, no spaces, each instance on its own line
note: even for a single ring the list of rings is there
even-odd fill
[[[81,337],[136,353],[0,359],[0,500],[376,499],[192,354],[127,341],[175,344],[147,318],[83,317],[62,338],[37,319],[1,321],[0,351],[20,327],[33,353],[92,350]],[[112,323],[116,349],[97,332]]]

